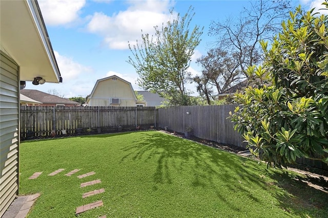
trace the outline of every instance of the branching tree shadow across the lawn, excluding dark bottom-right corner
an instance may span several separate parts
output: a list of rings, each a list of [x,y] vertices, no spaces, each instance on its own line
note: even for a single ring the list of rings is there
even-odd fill
[[[266,204],[263,203],[263,197],[252,190],[252,186],[267,189],[267,183],[259,177],[259,174],[263,173],[262,169],[256,168],[257,163],[247,158],[226,151],[218,152],[213,147],[200,146],[192,141],[162,133],[142,135],[133,145],[121,149],[129,152],[121,162],[127,158],[147,161],[154,156],[158,157],[153,174],[155,184],[173,184],[176,180],[172,174],[182,173],[188,168],[187,170],[192,171],[190,176],[193,177],[193,187],[203,188],[204,191],[211,189],[219,201],[226,203],[234,211],[246,209],[240,202],[231,201],[232,193],[246,197],[257,205]],[[248,166],[254,166],[252,168],[256,173],[254,169],[249,170]],[[218,181],[218,178],[222,179]],[[226,193],[222,193],[222,189],[226,190]]]

